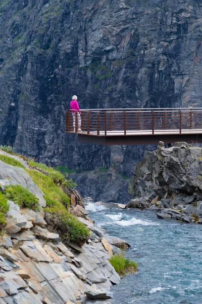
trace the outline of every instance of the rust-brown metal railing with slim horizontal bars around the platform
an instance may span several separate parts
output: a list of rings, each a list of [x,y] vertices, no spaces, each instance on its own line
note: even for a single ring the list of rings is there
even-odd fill
[[[66,132],[106,136],[113,133],[202,129],[202,108],[81,109],[66,112]],[[79,116],[80,115],[80,116]]]

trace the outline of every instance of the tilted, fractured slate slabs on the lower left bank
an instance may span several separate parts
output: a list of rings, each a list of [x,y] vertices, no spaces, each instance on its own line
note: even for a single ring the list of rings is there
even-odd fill
[[[118,284],[120,277],[109,262],[111,245],[107,240],[95,237],[82,247],[67,246],[58,234],[46,229],[42,212],[20,210],[13,202],[10,206],[17,212],[13,221],[18,229],[0,237],[1,304],[84,303],[91,288],[105,289],[94,291],[91,299],[102,298],[104,303],[109,298],[111,286]]]

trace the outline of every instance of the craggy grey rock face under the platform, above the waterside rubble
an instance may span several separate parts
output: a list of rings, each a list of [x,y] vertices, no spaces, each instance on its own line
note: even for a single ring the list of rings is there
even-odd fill
[[[201,157],[199,147],[172,147],[149,152],[148,157],[135,166],[129,192],[134,197],[144,194],[150,200],[158,195],[167,203],[172,200],[176,204],[192,203],[196,197],[193,193],[202,192]],[[173,199],[165,200],[165,196],[173,196]]]

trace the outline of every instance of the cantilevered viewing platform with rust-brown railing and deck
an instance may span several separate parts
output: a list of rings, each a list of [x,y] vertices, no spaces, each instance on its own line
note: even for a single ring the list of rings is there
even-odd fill
[[[66,132],[102,145],[202,142],[202,108],[81,109],[66,111]],[[78,131],[81,126],[81,131]]]

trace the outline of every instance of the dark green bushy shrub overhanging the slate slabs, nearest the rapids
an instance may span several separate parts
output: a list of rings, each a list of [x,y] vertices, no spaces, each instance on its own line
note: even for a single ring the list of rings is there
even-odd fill
[[[57,229],[61,231],[63,242],[82,241],[90,236],[87,227],[81,223],[74,215],[60,206],[50,206],[45,211],[58,217]]]

